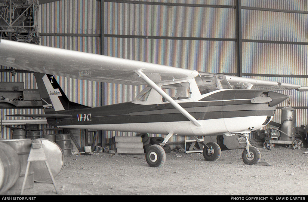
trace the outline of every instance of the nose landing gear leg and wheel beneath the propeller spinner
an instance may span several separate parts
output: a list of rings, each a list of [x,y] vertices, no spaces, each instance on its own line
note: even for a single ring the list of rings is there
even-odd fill
[[[257,147],[253,147],[248,140],[248,134],[243,134],[246,139],[246,147],[242,153],[242,158],[245,164],[254,165],[260,160],[260,151]]]

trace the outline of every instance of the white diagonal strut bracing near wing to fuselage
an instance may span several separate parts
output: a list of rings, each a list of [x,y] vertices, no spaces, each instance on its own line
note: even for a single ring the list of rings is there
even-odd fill
[[[190,115],[183,107],[181,107],[176,101],[174,101],[167,93],[165,93],[160,87],[156,85],[150,78],[148,78],[142,71],[135,71],[139,77],[141,77],[145,82],[147,82],[155,91],[157,91],[161,96],[163,96],[173,107],[179,110],[186,118],[193,122],[196,126],[200,127],[201,124]]]

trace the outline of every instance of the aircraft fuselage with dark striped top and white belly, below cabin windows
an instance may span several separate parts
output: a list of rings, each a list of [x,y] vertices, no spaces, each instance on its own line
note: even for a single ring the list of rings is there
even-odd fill
[[[170,103],[142,105],[120,103],[87,109],[67,110],[70,118],[47,119],[57,127],[110,131],[145,132],[178,135],[219,135],[247,133],[264,127],[272,119],[276,107],[269,103],[252,103],[251,99],[265,91],[217,91],[197,102],[179,103],[201,123],[197,127]],[[58,112],[61,114],[61,111]]]

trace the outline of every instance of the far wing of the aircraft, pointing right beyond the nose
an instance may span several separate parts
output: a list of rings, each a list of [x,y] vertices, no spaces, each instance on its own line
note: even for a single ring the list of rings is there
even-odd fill
[[[254,90],[269,90],[269,91],[283,91],[296,89],[298,91],[308,91],[308,87],[291,84],[281,83],[276,81],[267,81],[261,79],[251,79],[238,76],[225,75],[226,79],[233,87],[233,89],[254,89]]]

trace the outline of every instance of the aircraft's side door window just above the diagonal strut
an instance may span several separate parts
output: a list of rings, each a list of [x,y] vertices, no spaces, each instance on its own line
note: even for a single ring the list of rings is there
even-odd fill
[[[191,97],[189,82],[173,83],[164,85],[161,89],[167,93],[173,100],[188,99]],[[163,102],[167,100],[163,98]]]

